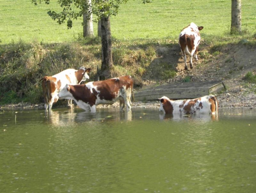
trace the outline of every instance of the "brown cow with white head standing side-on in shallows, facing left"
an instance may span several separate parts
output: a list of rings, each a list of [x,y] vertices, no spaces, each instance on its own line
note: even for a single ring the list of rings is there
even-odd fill
[[[126,105],[131,110],[133,97],[133,79],[131,76],[119,76],[104,81],[93,81],[83,85],[67,84],[58,94],[59,98],[73,99],[85,111],[96,112],[98,104],[120,102],[120,110]]]

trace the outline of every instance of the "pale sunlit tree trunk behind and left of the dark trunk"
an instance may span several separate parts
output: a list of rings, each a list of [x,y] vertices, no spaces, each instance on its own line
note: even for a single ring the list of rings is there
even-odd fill
[[[83,14],[83,35],[84,37],[93,37],[93,25],[92,25],[92,3],[91,0],[86,0],[89,5],[88,11]],[[90,15],[90,18],[88,16]]]

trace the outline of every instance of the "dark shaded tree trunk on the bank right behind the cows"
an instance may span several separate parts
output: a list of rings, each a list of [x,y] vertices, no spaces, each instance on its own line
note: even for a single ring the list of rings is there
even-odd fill
[[[113,66],[111,50],[111,32],[109,17],[102,17],[101,21],[101,68],[100,80],[112,78],[111,68]]]

